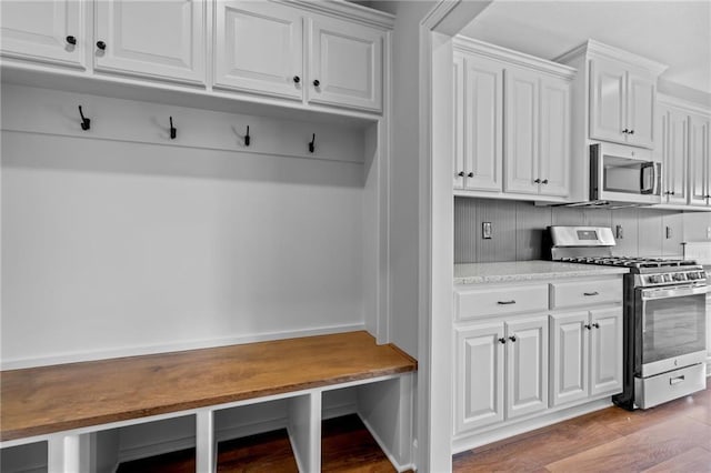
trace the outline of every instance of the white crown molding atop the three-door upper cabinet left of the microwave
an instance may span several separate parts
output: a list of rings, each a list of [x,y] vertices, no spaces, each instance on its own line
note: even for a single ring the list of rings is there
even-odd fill
[[[454,50],[482,56],[497,61],[503,61],[512,66],[534,70],[549,76],[555,76],[567,80],[572,80],[578,72],[575,68],[571,68],[569,66],[559,64],[547,59],[537,58],[535,56],[513,51],[508,48],[502,48],[497,44],[462,36],[454,38]]]

